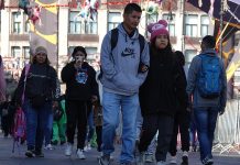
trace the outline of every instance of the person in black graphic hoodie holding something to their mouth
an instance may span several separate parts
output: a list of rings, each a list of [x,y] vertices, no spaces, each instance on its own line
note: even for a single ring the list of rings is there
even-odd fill
[[[85,160],[87,119],[91,111],[91,102],[98,99],[98,85],[95,79],[95,69],[85,61],[86,50],[83,46],[76,46],[72,56],[74,61],[62,70],[62,80],[66,82],[67,146],[65,155],[72,155],[77,127],[77,156]]]

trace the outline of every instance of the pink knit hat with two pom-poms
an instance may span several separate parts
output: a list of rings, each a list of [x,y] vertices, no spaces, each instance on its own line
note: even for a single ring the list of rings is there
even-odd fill
[[[160,34],[170,35],[167,29],[167,22],[165,20],[160,20],[156,23],[151,23],[148,25],[148,31],[151,33],[151,41]]]

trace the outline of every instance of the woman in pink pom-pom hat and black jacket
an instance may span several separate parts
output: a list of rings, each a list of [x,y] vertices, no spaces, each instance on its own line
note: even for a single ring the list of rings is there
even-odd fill
[[[172,51],[166,26],[165,20],[148,25],[151,33],[150,69],[139,92],[143,125],[137,156],[138,165],[144,164],[145,152],[157,131],[155,160],[157,165],[165,164],[177,102],[187,102],[184,75]]]

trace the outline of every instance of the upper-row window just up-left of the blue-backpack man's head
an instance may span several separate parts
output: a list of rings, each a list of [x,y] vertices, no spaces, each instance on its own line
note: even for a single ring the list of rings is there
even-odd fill
[[[197,15],[185,15],[185,35],[197,36]]]

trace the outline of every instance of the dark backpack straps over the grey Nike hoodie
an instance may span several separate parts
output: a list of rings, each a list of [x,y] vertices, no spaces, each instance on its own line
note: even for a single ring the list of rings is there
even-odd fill
[[[111,30],[111,52],[113,51],[113,48],[117,46],[118,43],[118,29],[114,28]],[[144,45],[145,45],[145,38],[143,35],[139,34],[139,45],[140,45],[140,57],[142,56],[142,52],[144,50]],[[112,54],[111,54],[112,55]],[[141,59],[141,58],[140,58]],[[142,64],[142,63],[140,63]],[[102,69],[100,67],[100,74],[98,76],[98,78],[100,79],[102,77]]]

